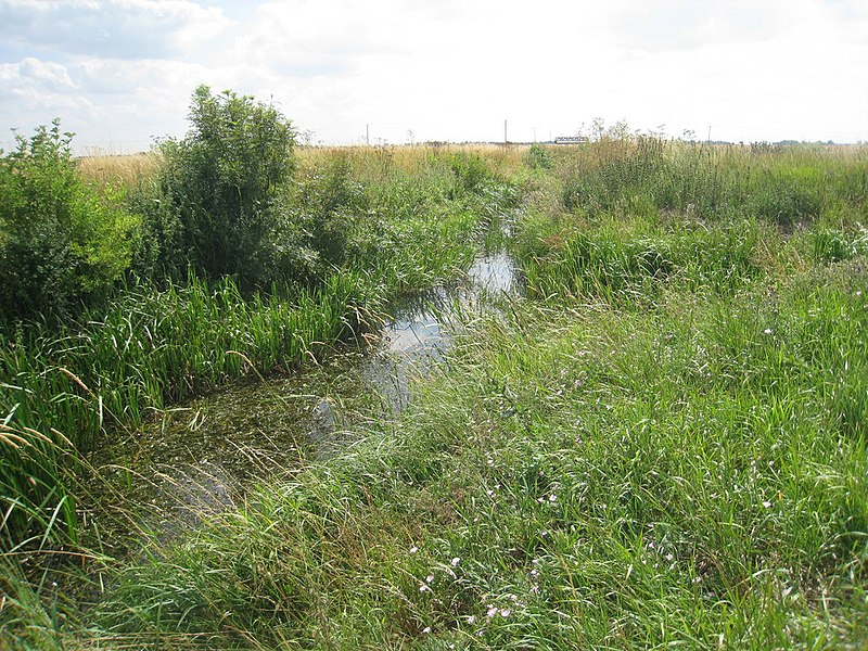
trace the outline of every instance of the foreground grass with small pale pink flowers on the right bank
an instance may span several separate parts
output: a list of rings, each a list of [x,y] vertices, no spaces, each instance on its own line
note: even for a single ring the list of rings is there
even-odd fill
[[[858,647],[866,281],[859,261],[770,298],[477,323],[397,427],[128,566],[102,624],[254,648]]]

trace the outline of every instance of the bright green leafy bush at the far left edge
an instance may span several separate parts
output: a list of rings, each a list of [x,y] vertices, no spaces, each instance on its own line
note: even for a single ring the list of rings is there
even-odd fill
[[[84,182],[71,140],[55,120],[0,158],[0,321],[69,315],[129,265],[136,219]]]

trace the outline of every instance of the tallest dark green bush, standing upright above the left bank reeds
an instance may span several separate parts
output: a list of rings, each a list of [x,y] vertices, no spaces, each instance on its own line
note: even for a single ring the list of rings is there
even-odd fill
[[[267,286],[282,238],[283,194],[295,167],[295,136],[273,106],[200,86],[191,129],[162,143],[157,187],[140,199],[146,216],[138,260],[149,275],[182,278],[188,264],[209,278]]]

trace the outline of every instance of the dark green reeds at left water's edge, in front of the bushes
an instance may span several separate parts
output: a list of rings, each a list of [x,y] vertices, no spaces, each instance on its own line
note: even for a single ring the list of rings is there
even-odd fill
[[[130,288],[80,326],[3,341],[4,547],[44,545],[61,524],[75,539],[68,473],[106,431],[252,372],[248,363],[267,373],[320,356],[368,326],[382,299],[368,288],[345,272],[292,299],[245,299],[231,280],[212,290],[191,277],[165,291]]]

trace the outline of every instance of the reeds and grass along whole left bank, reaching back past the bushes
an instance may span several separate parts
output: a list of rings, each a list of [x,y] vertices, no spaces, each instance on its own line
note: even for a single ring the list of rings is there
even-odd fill
[[[472,187],[461,177],[465,161],[475,166]],[[248,362],[267,373],[319,357],[374,322],[386,299],[469,267],[487,226],[513,201],[481,159],[459,154],[429,161],[417,179],[372,174],[342,154],[299,177],[292,209],[333,246],[309,252],[316,278],[252,295],[229,278],[192,275],[162,290],[132,283],[76,322],[37,321],[3,336],[5,548],[75,541],[78,456],[113,429],[136,427],[155,409],[251,372]]]

